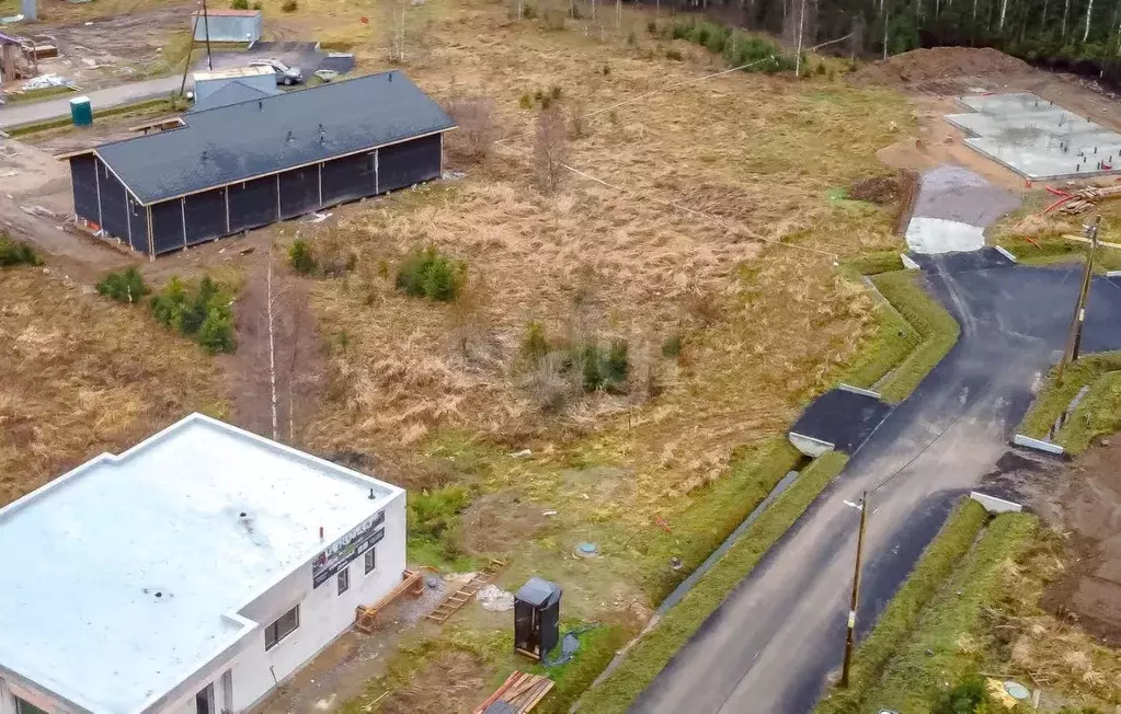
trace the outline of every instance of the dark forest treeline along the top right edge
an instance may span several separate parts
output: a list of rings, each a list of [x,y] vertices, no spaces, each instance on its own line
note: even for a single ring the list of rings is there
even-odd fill
[[[695,10],[810,47],[882,57],[994,47],[1031,64],[1121,83],[1121,0],[641,0]]]

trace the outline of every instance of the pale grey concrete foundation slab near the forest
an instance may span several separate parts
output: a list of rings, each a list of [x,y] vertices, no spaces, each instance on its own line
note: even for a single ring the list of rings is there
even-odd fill
[[[965,143],[1031,179],[1121,174],[1121,135],[1035,94],[958,99],[970,113],[946,121],[971,135]]]

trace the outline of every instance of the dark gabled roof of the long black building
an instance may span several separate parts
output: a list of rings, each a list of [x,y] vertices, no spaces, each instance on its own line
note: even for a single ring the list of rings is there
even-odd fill
[[[455,127],[397,71],[196,111],[185,121],[94,150],[150,204]]]

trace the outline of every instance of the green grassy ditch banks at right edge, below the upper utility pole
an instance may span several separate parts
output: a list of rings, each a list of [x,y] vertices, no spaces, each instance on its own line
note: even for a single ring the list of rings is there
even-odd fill
[[[1078,391],[1090,384],[1090,392],[1059,430],[1056,443],[1073,453],[1090,445],[1100,434],[1111,434],[1121,426],[1121,352],[1087,354],[1067,367],[1063,384],[1055,383],[1055,372],[1036,397],[1031,409],[1020,421],[1019,432],[1034,438],[1047,438],[1055,419],[1066,409]]]

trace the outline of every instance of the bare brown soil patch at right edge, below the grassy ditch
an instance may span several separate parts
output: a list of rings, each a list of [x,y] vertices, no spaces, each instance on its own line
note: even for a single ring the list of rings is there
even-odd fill
[[[1097,446],[1063,474],[1040,513],[1069,531],[1071,559],[1041,604],[1121,645],[1121,443]]]

